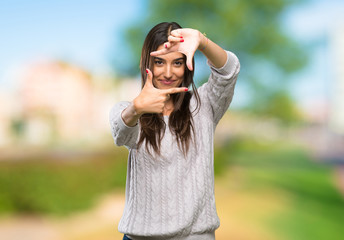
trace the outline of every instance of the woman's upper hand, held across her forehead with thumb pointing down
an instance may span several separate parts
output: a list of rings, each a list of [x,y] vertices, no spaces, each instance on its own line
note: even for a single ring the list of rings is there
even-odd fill
[[[186,66],[193,70],[192,58],[199,48],[203,34],[191,28],[181,28],[171,31],[168,42],[164,43],[164,48],[151,52],[151,56],[164,55],[170,52],[181,52],[186,56]]]

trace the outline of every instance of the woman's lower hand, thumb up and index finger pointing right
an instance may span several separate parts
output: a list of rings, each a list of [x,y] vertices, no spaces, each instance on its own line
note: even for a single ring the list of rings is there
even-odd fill
[[[147,69],[147,79],[139,96],[133,101],[133,107],[138,115],[145,113],[162,113],[170,94],[188,91],[185,87],[158,89],[153,85],[153,73]]]

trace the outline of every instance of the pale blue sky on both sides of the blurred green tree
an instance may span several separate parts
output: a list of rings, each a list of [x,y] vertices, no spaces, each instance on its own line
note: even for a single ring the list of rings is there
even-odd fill
[[[13,75],[27,63],[62,59],[91,72],[110,69],[125,26],[144,16],[140,0],[2,0],[0,4],[0,90],[15,85]],[[328,94],[324,63],[328,46],[317,43],[344,22],[344,1],[308,0],[290,7],[284,28],[305,45],[314,45],[307,68],[293,76],[293,94],[310,101]]]

